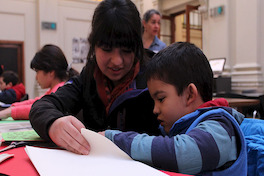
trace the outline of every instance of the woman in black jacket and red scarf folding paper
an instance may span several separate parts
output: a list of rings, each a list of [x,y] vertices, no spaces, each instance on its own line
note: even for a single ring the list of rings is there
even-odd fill
[[[87,64],[55,94],[35,102],[30,122],[45,140],[78,154],[90,146],[81,128],[158,133],[145,88],[141,20],[130,0],[104,0],[95,9]],[[83,120],[74,115],[83,110]]]

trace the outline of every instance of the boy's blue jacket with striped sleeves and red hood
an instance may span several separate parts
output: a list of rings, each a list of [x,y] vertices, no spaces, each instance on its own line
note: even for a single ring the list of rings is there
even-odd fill
[[[137,90],[119,97],[112,109],[129,98],[145,94]],[[158,169],[199,175],[247,175],[244,135],[239,127],[244,116],[226,107],[226,100],[206,102],[203,108],[175,122],[167,135],[106,130],[112,140],[133,159]],[[140,121],[138,122],[140,123]]]

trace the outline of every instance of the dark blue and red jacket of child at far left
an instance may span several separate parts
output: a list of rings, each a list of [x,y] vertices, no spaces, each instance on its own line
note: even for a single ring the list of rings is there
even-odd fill
[[[0,102],[6,104],[12,104],[14,102],[20,101],[20,99],[25,95],[25,86],[22,83],[14,85],[10,88],[3,90],[0,93]]]

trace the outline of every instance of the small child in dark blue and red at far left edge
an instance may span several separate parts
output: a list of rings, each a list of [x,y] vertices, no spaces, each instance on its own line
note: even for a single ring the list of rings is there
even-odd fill
[[[0,75],[0,102],[12,104],[25,95],[25,86],[18,83],[18,76],[13,71],[4,71]]]

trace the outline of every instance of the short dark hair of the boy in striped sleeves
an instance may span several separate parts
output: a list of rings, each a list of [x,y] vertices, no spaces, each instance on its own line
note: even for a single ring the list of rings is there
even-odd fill
[[[178,42],[158,52],[147,66],[146,78],[174,85],[179,95],[193,83],[204,102],[212,100],[213,72],[206,56],[194,44]]]

